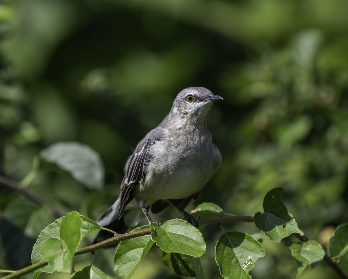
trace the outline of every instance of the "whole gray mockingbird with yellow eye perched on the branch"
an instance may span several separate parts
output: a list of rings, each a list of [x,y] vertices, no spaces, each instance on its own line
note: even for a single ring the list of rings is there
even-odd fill
[[[189,87],[175,98],[163,121],[151,130],[128,158],[116,202],[97,221],[100,226],[124,233],[124,214],[138,204],[148,219],[168,204],[174,206],[193,226],[198,222],[184,208],[196,200],[202,188],[220,167],[221,153],[207,128],[214,101],[223,100],[204,87]],[[107,237],[100,231],[96,241]]]

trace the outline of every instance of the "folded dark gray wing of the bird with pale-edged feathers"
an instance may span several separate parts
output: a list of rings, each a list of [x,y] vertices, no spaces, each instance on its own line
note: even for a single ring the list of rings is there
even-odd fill
[[[125,206],[133,199],[134,185],[141,183],[147,174],[145,164],[151,160],[149,147],[161,141],[164,134],[164,130],[159,127],[151,130],[128,158],[124,168],[125,176],[121,183],[119,217],[122,216]]]

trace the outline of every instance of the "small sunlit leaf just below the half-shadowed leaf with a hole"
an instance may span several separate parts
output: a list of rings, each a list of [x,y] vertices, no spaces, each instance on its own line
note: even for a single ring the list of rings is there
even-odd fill
[[[299,267],[310,265],[313,269],[323,261],[325,255],[323,247],[315,240],[308,240],[306,242],[287,241],[285,246],[291,250],[291,255]],[[300,272],[302,271],[303,269],[300,269]]]

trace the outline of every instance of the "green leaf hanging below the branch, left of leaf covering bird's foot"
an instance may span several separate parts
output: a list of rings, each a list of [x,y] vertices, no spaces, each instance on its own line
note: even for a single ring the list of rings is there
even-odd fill
[[[149,226],[135,228],[132,232],[140,231],[145,228],[149,228]],[[122,240],[117,246],[113,259],[116,276],[120,277],[125,275],[127,278],[132,277],[139,263],[150,250],[153,243],[151,235]]]

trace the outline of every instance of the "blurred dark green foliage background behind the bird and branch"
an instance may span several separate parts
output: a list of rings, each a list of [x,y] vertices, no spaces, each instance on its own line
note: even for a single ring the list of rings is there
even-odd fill
[[[267,191],[282,186],[299,227],[325,247],[348,220],[347,11],[346,0],[2,1],[0,172],[17,181],[31,173],[29,190],[50,206],[96,220],[117,198],[132,148],[180,90],[204,86],[224,98],[208,121],[222,164],[198,203],[253,215],[263,211]],[[31,172],[40,150],[60,141],[100,153],[102,191],[42,163]],[[56,218],[2,185],[0,191],[0,269],[19,269]],[[168,209],[156,218],[176,217]],[[253,224],[224,228],[257,232]],[[214,262],[221,231],[207,226],[203,235],[206,278],[221,278]],[[267,256],[253,278],[294,278],[290,251],[263,244]],[[156,248],[133,278],[178,278]],[[112,276],[113,250],[97,255],[95,265]],[[76,269],[89,261],[77,257]],[[322,264],[301,278],[335,274]]]

